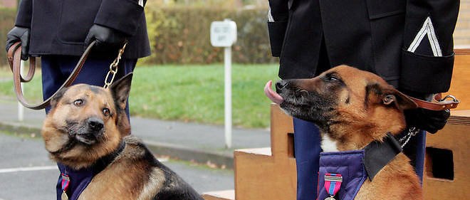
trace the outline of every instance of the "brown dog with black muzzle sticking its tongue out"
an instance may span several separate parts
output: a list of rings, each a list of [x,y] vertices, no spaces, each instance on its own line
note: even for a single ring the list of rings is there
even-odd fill
[[[379,76],[346,65],[311,79],[281,80],[266,95],[288,115],[320,128],[324,152],[362,149],[387,132],[406,127],[403,110],[417,105]],[[422,188],[409,159],[397,154],[373,181],[362,184],[355,199],[422,199]]]

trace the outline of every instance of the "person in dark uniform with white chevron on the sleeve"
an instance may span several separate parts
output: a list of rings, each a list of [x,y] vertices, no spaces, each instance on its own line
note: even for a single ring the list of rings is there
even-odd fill
[[[268,30],[279,77],[313,78],[347,64],[380,75],[414,98],[449,90],[452,34],[459,0],[269,0]],[[448,110],[412,110],[407,125],[428,132],[444,127]],[[316,197],[320,137],[313,123],[294,119],[297,199]],[[404,149],[422,177],[426,135]],[[410,144],[411,143],[411,144]]]

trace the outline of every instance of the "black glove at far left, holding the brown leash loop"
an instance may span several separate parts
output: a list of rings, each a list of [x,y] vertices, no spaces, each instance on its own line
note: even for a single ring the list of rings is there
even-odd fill
[[[6,34],[6,51],[17,41],[21,41],[21,60],[28,60],[29,28],[15,26]]]

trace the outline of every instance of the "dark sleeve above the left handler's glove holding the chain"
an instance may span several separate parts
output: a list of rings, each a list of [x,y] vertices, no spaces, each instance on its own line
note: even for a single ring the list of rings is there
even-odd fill
[[[94,23],[133,36],[143,17],[142,3],[145,4],[146,0],[103,0]]]

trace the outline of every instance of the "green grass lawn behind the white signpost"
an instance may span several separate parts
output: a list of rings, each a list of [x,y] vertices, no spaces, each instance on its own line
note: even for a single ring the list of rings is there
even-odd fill
[[[9,71],[0,70],[0,78]],[[224,66],[139,66],[130,92],[133,116],[221,125],[224,123]],[[234,65],[232,68],[233,123],[268,127],[269,103],[263,93],[268,80],[279,80],[278,65]],[[37,75],[25,87],[26,97],[41,98]],[[11,81],[0,82],[0,95],[14,97]]]

